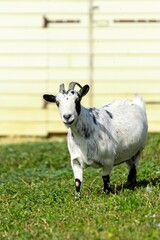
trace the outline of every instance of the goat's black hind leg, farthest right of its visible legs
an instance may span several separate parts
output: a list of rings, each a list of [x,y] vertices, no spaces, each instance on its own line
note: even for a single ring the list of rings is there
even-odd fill
[[[140,157],[140,152],[138,152],[135,156],[133,156],[130,160],[126,162],[129,168],[127,187],[131,190],[134,190],[136,185],[136,175],[137,175],[137,166],[138,166],[139,157]]]

